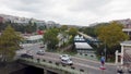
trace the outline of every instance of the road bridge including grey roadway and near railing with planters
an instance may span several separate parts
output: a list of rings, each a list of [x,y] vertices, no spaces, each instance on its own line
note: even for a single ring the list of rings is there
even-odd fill
[[[41,49],[39,45],[25,47],[23,50],[27,50],[33,55],[33,59],[20,58],[19,62],[43,69],[44,74],[49,74],[49,71],[56,74],[102,74],[102,70],[99,69],[100,63],[97,61],[71,57],[73,65],[64,65],[60,62],[59,53],[45,52],[44,55],[38,55],[36,52],[39,49]],[[116,72],[116,65],[114,64],[106,63],[106,69],[104,71],[105,74],[114,74]]]

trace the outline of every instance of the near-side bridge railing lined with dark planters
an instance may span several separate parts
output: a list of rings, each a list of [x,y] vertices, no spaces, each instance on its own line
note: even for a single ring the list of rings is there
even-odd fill
[[[27,58],[21,58],[20,60],[24,61],[25,63],[33,63],[36,65],[41,65],[48,69],[52,69],[55,71],[60,71],[62,74],[85,74],[84,69],[75,69],[75,66],[71,65],[64,65],[61,64],[60,62],[52,62],[50,60],[46,59],[39,59],[39,58],[33,58],[33,59],[27,59]]]

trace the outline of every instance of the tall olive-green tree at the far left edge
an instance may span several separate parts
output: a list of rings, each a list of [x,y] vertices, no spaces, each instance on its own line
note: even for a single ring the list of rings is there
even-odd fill
[[[15,55],[15,50],[20,48],[21,37],[15,30],[8,26],[0,36],[0,54],[2,55],[2,62],[10,62]]]

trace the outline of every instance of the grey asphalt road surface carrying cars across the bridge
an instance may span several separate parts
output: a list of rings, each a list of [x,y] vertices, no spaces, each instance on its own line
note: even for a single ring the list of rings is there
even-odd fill
[[[25,49],[29,54],[33,54],[34,58],[40,58],[40,59],[45,59],[45,60],[50,60],[50,61],[56,61],[56,62],[60,62],[60,54],[59,53],[51,53],[51,52],[45,52],[44,55],[38,55],[36,54],[36,52],[41,49],[39,48],[38,45],[34,45],[32,47],[25,47]],[[82,59],[82,58],[76,58],[76,57],[72,57],[72,61],[73,61],[73,67],[78,69],[78,70],[84,70],[85,74],[116,74],[116,69],[117,66],[115,64],[108,64],[106,63],[106,70],[104,70],[104,73],[102,73],[103,71],[99,69],[100,66],[100,62],[96,62],[96,61],[92,61],[92,60],[87,60],[87,59]]]

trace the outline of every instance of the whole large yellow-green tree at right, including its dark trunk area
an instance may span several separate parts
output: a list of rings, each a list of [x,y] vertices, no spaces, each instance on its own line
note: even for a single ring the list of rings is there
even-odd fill
[[[99,52],[104,52],[107,61],[112,60],[115,51],[120,49],[120,42],[127,40],[129,38],[128,35],[122,32],[122,25],[117,22],[111,22],[105,26],[103,25],[96,30],[98,39],[104,42],[96,53],[99,54]]]

